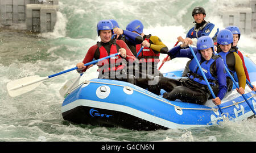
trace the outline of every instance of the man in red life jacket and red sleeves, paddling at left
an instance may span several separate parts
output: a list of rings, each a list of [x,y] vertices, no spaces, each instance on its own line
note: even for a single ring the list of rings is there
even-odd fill
[[[94,46],[90,47],[86,53],[84,60],[77,63],[77,72],[85,72],[88,67],[84,64],[92,61],[93,59],[100,59],[120,52],[120,55],[114,56],[110,59],[102,60],[97,63],[100,72],[98,78],[110,78],[114,80],[127,81],[135,84],[134,76],[127,75],[126,63],[136,59],[122,40],[112,40],[113,24],[110,20],[100,20],[97,24],[97,33],[100,36],[101,42],[97,42]]]

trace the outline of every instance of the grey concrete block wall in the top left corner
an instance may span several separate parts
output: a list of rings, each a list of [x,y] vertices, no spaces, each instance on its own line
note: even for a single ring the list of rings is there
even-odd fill
[[[0,27],[51,32],[56,23],[58,4],[58,0],[0,0]]]

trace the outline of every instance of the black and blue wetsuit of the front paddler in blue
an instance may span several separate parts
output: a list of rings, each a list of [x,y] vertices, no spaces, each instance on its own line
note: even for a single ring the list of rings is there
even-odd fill
[[[189,57],[192,59],[193,64],[195,63],[195,59],[193,59],[193,56],[191,54],[190,49],[182,49],[180,46],[174,47],[168,52],[168,55],[170,57]],[[194,49],[195,54],[197,56],[197,59],[199,59],[200,64],[204,63],[207,64],[209,61],[205,61],[203,57],[201,57],[201,54],[197,51],[197,49]],[[211,86],[213,89],[214,94],[216,97],[222,98],[226,94],[227,86],[226,86],[226,78],[225,78],[225,68],[224,63],[220,56],[212,56],[212,64],[207,64],[209,71],[213,78],[216,78],[216,80],[210,80],[209,82],[212,82]],[[192,64],[191,62],[191,64]],[[193,69],[194,74],[199,72],[200,70],[195,69],[196,67],[191,67]],[[205,69],[206,71],[207,69]],[[176,99],[184,101],[184,102],[191,102],[195,104],[205,104],[205,102],[210,97],[210,91],[208,89],[208,86],[205,85],[203,82],[204,78],[201,75],[193,75],[192,78],[199,78],[199,82],[195,81],[195,79],[192,80],[190,75],[188,74],[188,78],[184,80],[175,80],[172,78],[166,78],[166,77],[159,77],[159,86],[160,88],[166,90],[168,93],[164,93],[163,98],[167,98],[168,100],[175,101]],[[206,72],[205,72],[206,73]],[[201,83],[200,83],[201,82]]]

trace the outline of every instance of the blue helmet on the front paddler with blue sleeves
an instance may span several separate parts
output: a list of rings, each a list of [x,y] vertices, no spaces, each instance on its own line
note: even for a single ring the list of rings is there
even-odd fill
[[[214,51],[214,43],[210,36],[201,36],[196,43],[197,50],[212,48]]]

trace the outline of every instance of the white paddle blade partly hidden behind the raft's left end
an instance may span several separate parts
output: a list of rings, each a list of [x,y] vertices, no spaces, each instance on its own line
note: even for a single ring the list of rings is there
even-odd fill
[[[75,88],[77,85],[79,85],[80,77],[72,78],[71,80],[68,80],[59,90],[60,95],[65,97],[69,90]]]

